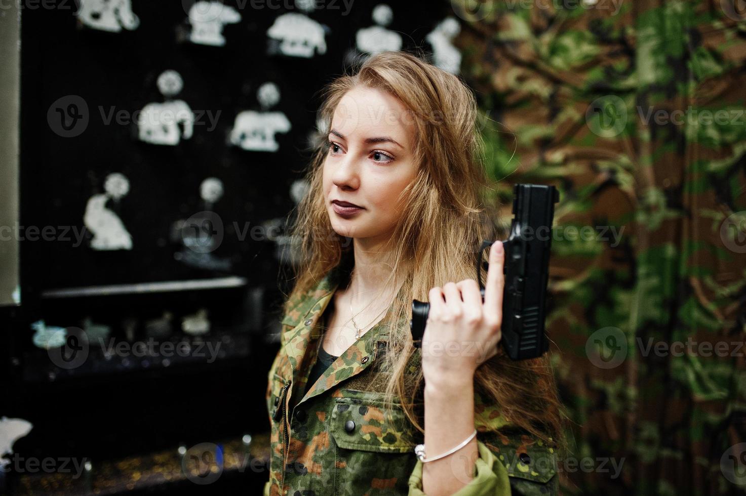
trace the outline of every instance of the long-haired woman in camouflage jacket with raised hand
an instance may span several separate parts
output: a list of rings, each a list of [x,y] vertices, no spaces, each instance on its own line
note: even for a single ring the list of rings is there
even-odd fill
[[[301,262],[269,371],[265,494],[557,494],[548,359],[513,362],[498,346],[501,242],[484,304],[474,280],[492,232],[471,92],[384,52],[333,81],[321,113],[327,142],[298,205]],[[421,348],[413,298],[431,305]]]

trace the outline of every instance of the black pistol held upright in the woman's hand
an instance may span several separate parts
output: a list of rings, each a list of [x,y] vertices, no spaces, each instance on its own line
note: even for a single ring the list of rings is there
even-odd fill
[[[544,330],[545,298],[549,278],[549,251],[552,242],[554,204],[560,193],[554,186],[516,184],[513,186],[513,221],[505,248],[505,288],[503,292],[502,339],[505,351],[512,360],[541,357],[549,348]],[[483,241],[477,254],[477,283],[482,301],[484,284],[480,265],[484,248],[492,242]],[[430,304],[412,301],[410,329],[414,345],[422,345],[424,327]]]

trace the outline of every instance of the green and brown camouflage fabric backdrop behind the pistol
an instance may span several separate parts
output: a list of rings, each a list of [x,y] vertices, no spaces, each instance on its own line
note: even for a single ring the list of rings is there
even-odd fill
[[[562,494],[746,492],[744,7],[446,7],[494,120],[504,219],[514,183],[560,190],[546,327],[574,440]]]

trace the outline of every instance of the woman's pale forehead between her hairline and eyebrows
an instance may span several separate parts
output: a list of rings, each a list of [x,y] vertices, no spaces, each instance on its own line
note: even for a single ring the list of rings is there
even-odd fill
[[[354,88],[334,109],[331,128],[345,139],[391,136],[405,145],[402,140],[408,144],[414,133],[413,113],[388,92]]]

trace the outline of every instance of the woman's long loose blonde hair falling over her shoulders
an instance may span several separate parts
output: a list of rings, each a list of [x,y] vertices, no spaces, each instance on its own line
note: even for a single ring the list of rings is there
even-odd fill
[[[386,247],[395,254],[389,282],[404,281],[404,298],[394,301],[392,311],[384,318],[389,324],[389,342],[383,367],[392,371],[386,400],[401,403],[407,418],[424,433],[421,410],[416,411],[416,407],[421,407],[416,399],[421,396],[413,395],[408,386],[412,379],[407,377],[412,375],[408,362],[415,348],[410,327],[403,323],[409,321],[412,300],[427,301],[430,288],[474,278],[474,257],[480,242],[495,239],[495,224],[491,221],[494,210],[488,209],[486,201],[489,183],[481,156],[477,102],[457,76],[413,54],[386,51],[365,60],[356,72],[336,78],[325,88],[319,113],[327,128],[322,133],[329,131],[342,96],[354,87],[389,92],[416,116],[414,156],[418,170],[402,193],[407,198],[407,215],[401,216]],[[290,228],[291,237],[298,239],[299,262],[288,302],[351,256],[350,239],[334,232],[325,205],[322,169],[326,154],[325,141],[320,140],[307,170],[310,188],[298,204],[295,223]],[[484,269],[481,277],[484,281]],[[421,367],[418,370],[414,391],[421,393]],[[477,368],[474,389],[487,404],[498,404],[513,424],[550,445],[565,448],[564,409],[547,355],[514,362],[498,354]]]

